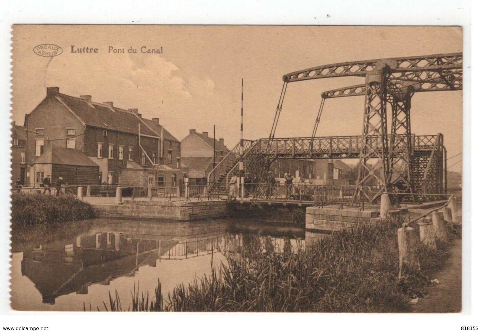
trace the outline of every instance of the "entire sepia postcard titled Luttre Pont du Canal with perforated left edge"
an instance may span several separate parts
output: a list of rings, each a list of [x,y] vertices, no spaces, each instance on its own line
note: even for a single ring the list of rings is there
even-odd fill
[[[14,25],[12,66],[12,310],[462,312],[462,27]]]

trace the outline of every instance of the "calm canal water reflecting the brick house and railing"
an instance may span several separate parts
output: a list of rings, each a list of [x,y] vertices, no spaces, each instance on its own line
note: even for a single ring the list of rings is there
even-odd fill
[[[158,279],[164,298],[177,284],[211,274],[226,256],[256,247],[304,249],[303,224],[250,219],[190,222],[95,219],[56,226],[45,235],[12,244],[12,308],[105,310],[117,291],[127,310],[136,290],[150,297]],[[263,245],[258,245],[261,242]]]

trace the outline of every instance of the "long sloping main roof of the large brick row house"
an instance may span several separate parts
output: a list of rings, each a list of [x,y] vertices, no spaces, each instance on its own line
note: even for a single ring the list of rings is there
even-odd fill
[[[132,111],[92,102],[88,104],[84,99],[58,93],[57,100],[68,107],[86,125],[107,130],[128,133],[140,133],[157,136],[157,132],[145,125]]]

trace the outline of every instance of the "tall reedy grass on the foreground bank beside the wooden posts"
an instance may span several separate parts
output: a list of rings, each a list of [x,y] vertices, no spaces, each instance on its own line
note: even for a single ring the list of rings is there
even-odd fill
[[[227,256],[228,265],[177,285],[167,298],[159,282],[153,297],[134,287],[127,308],[116,292],[109,293],[102,310],[410,312],[409,301],[422,297],[430,284],[428,276],[447,259],[448,244],[440,243],[438,251],[419,244],[421,269],[407,270],[398,279],[396,231],[403,221],[357,225],[301,252],[286,246],[276,253],[266,242],[254,241],[241,258]]]

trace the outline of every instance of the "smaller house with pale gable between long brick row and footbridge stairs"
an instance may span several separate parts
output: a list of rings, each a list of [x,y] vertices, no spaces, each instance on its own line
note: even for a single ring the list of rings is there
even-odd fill
[[[198,133],[189,130],[189,135],[182,139],[182,166],[189,169],[188,177],[191,184],[207,184],[207,175],[214,165],[219,163],[229,152],[224,145],[224,139],[209,137],[209,132]]]

